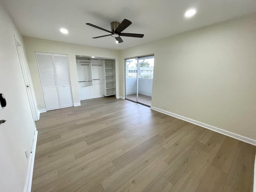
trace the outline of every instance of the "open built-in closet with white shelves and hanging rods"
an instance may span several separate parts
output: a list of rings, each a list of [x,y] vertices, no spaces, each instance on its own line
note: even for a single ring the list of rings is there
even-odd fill
[[[116,94],[116,62],[110,58],[76,56],[80,100]]]

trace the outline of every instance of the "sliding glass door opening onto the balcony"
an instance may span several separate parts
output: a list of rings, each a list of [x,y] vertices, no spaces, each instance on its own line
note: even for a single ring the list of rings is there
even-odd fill
[[[125,60],[126,99],[151,106],[154,56]]]

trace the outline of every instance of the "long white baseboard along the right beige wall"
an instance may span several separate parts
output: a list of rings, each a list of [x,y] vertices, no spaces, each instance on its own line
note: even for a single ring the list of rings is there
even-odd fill
[[[202,122],[190,119],[190,118],[186,118],[184,116],[181,116],[181,115],[178,115],[178,114],[175,114],[175,113],[172,113],[172,112],[168,112],[166,110],[162,110],[162,109],[159,109],[159,108],[156,108],[156,107],[153,107],[153,106],[151,106],[150,108],[152,110],[155,110],[155,111],[158,111],[158,112],[161,112],[161,113],[164,113],[164,114],[176,117],[178,119],[190,122],[192,124],[199,125],[199,126],[204,127],[206,129],[210,129],[212,131],[224,134],[226,136],[229,136],[229,137],[232,137],[232,138],[235,138],[235,139],[238,139],[240,141],[243,141],[243,142],[246,142],[246,143],[249,143],[249,144],[252,144],[252,145],[256,146],[256,140],[254,140],[252,138],[248,138],[248,137],[245,137],[245,136],[242,136],[242,135],[239,135],[239,134],[236,134],[236,133],[224,130],[224,129],[220,129],[220,128],[217,128],[217,127],[214,127],[214,126],[211,126],[211,125],[208,125],[208,124],[205,124],[205,123],[202,123]]]

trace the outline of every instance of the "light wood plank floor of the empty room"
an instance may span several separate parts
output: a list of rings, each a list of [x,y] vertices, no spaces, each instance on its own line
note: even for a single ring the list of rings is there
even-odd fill
[[[36,122],[33,192],[252,192],[256,146],[97,98]]]

